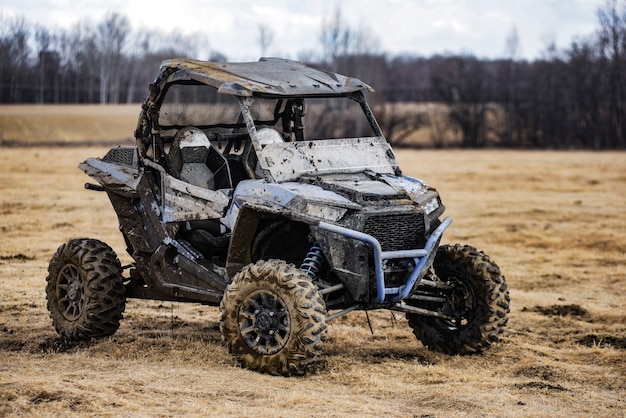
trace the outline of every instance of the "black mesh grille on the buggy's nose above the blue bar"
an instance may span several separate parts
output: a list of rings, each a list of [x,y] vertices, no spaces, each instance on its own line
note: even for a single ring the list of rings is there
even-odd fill
[[[415,249],[424,237],[424,218],[417,212],[372,215],[363,232],[376,238],[383,251]]]

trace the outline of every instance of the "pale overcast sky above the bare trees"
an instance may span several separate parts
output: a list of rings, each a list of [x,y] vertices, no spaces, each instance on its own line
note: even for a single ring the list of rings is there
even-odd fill
[[[371,33],[379,52],[430,56],[472,53],[480,58],[505,55],[513,28],[518,58],[535,59],[554,41],[566,48],[598,27],[596,11],[605,0],[2,0],[4,17],[21,16],[31,24],[69,28],[79,21],[101,22],[119,12],[132,29],[178,27],[200,32],[200,51],[219,51],[231,61],[261,54],[258,27],[274,32],[266,55],[297,59],[303,51],[321,53],[324,18],[339,7],[353,29]],[[208,56],[197,58],[206,59]]]

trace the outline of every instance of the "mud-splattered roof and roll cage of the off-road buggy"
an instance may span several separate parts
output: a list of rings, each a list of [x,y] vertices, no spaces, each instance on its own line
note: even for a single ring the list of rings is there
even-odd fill
[[[199,93],[199,88],[204,91]],[[365,91],[373,90],[356,78],[283,59],[262,58],[258,62],[229,64],[167,60],[150,85],[150,95],[142,106],[135,131],[139,154],[142,159],[148,158],[172,173],[169,147],[177,132],[194,126],[207,134],[233,166],[233,186],[246,178],[265,177],[271,181],[275,176],[267,172],[267,161],[260,169],[257,163],[270,137],[278,137],[263,128],[276,130],[283,142],[304,141],[303,118],[307,100],[346,98],[358,103],[367,120],[364,125],[368,125],[368,132],[371,132],[368,137],[373,136],[378,138],[377,143],[386,144],[365,99]],[[173,97],[173,104],[168,102],[170,97]],[[178,104],[177,100],[181,103]],[[269,107],[257,110],[257,103],[261,102]],[[173,116],[180,109],[192,112],[200,108],[204,110]],[[210,120],[208,115],[217,115],[217,119]],[[265,136],[260,135],[261,130]],[[382,151],[392,155],[390,148]],[[382,164],[388,165],[386,161]],[[397,171],[395,157],[390,164]]]

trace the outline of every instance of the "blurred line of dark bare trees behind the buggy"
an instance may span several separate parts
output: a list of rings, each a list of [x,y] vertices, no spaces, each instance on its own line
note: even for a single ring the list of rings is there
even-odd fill
[[[503,40],[506,56],[486,60],[390,56],[337,9],[322,22],[321,57],[299,59],[374,86],[372,102],[396,145],[428,128],[430,146],[624,149],[626,0],[607,0],[597,17],[595,33],[563,50],[549,44],[534,61],[517,57],[512,29]],[[273,35],[259,25],[262,54]],[[0,15],[0,103],[141,102],[163,59],[198,58],[206,43],[200,33],[133,32],[115,13],[96,25],[54,31]],[[199,58],[227,59],[218,51]]]

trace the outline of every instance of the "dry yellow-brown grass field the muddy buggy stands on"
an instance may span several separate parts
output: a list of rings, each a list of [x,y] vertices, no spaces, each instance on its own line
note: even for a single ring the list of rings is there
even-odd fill
[[[352,313],[330,323],[323,370],[283,378],[238,367],[202,305],[129,300],[114,336],[60,341],[44,292],[56,248],[94,237],[130,262],[76,168],[105,152],[0,147],[0,416],[626,417],[626,153],[398,151],[442,194],[444,242],[505,274],[503,341],[446,356],[401,314],[370,313],[372,333]]]

